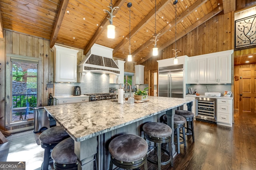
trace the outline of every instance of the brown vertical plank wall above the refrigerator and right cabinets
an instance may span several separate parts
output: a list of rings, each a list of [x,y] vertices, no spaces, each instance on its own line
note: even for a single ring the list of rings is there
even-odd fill
[[[158,57],[151,57],[144,65],[144,83],[150,84],[151,70],[158,69],[157,60],[174,57],[175,44],[166,47]],[[234,49],[234,12],[219,14],[190,31],[176,42],[179,56],[189,57]]]

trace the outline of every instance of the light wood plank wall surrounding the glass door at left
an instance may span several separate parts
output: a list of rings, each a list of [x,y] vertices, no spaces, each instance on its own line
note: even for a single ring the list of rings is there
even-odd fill
[[[39,106],[47,106],[50,93],[53,94],[53,88],[47,88],[48,82],[53,82],[54,78],[54,55],[53,51],[50,51],[50,41],[38,37],[32,37],[30,35],[24,35],[11,30],[4,30],[4,39],[0,41],[0,63],[5,65],[6,54],[16,54],[28,57],[37,57],[42,59],[42,89],[38,89],[38,93],[42,94],[42,98],[38,99]],[[2,62],[3,61],[3,62]],[[1,69],[2,70],[2,69]],[[4,69],[3,69],[4,70]],[[4,72],[1,72],[0,77],[5,77]],[[0,92],[1,99],[5,98],[5,91],[10,91],[10,86],[4,86],[5,80],[1,80]],[[5,129],[5,114],[4,114],[4,102],[0,103],[0,117],[1,117],[1,129]],[[5,101],[10,102],[10,101]],[[33,125],[33,124],[32,124]],[[24,127],[24,125],[22,125]],[[18,129],[21,127],[10,127],[5,130]]]

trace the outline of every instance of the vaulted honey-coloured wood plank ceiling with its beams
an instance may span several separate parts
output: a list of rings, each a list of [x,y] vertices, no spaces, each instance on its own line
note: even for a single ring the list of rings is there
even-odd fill
[[[175,42],[174,0],[156,0],[157,47],[162,50]],[[0,37],[10,29],[84,49],[86,54],[94,43],[110,47],[113,57],[125,59],[129,53],[129,8],[131,10],[131,53],[140,64],[152,57],[151,39],[155,33],[155,0],[112,0],[115,39],[108,39],[110,0],[1,0]],[[178,0],[177,39],[224,10],[235,10],[234,0]]]

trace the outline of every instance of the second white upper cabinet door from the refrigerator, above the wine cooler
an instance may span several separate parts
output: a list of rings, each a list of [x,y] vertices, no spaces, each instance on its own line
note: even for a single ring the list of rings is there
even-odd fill
[[[207,59],[197,59],[197,83],[207,83]]]

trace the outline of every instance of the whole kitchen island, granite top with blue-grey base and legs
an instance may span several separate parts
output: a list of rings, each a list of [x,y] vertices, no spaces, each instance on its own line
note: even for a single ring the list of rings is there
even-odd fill
[[[160,121],[167,114],[168,125],[173,128],[175,109],[187,104],[191,109],[193,100],[148,96],[149,102],[118,104],[111,100],[82,102],[58,106],[46,106],[46,111],[66,130],[75,141],[75,153],[79,159],[78,169],[93,169],[97,153],[98,169],[108,169],[110,161],[108,143],[117,135],[142,136],[142,125]],[[174,135],[172,148],[175,155]]]

